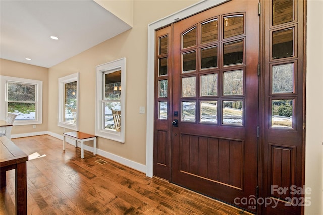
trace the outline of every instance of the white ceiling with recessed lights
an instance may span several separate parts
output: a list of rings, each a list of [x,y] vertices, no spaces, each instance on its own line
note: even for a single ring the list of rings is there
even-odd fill
[[[93,0],[0,0],[0,58],[49,68],[130,28]]]

